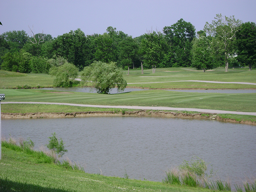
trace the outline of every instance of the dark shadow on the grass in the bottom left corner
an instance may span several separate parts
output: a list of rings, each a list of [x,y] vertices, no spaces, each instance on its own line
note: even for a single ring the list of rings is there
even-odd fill
[[[0,179],[1,192],[72,192],[63,189],[55,189],[50,187],[41,187],[33,184],[19,183],[9,181],[7,179]]]

